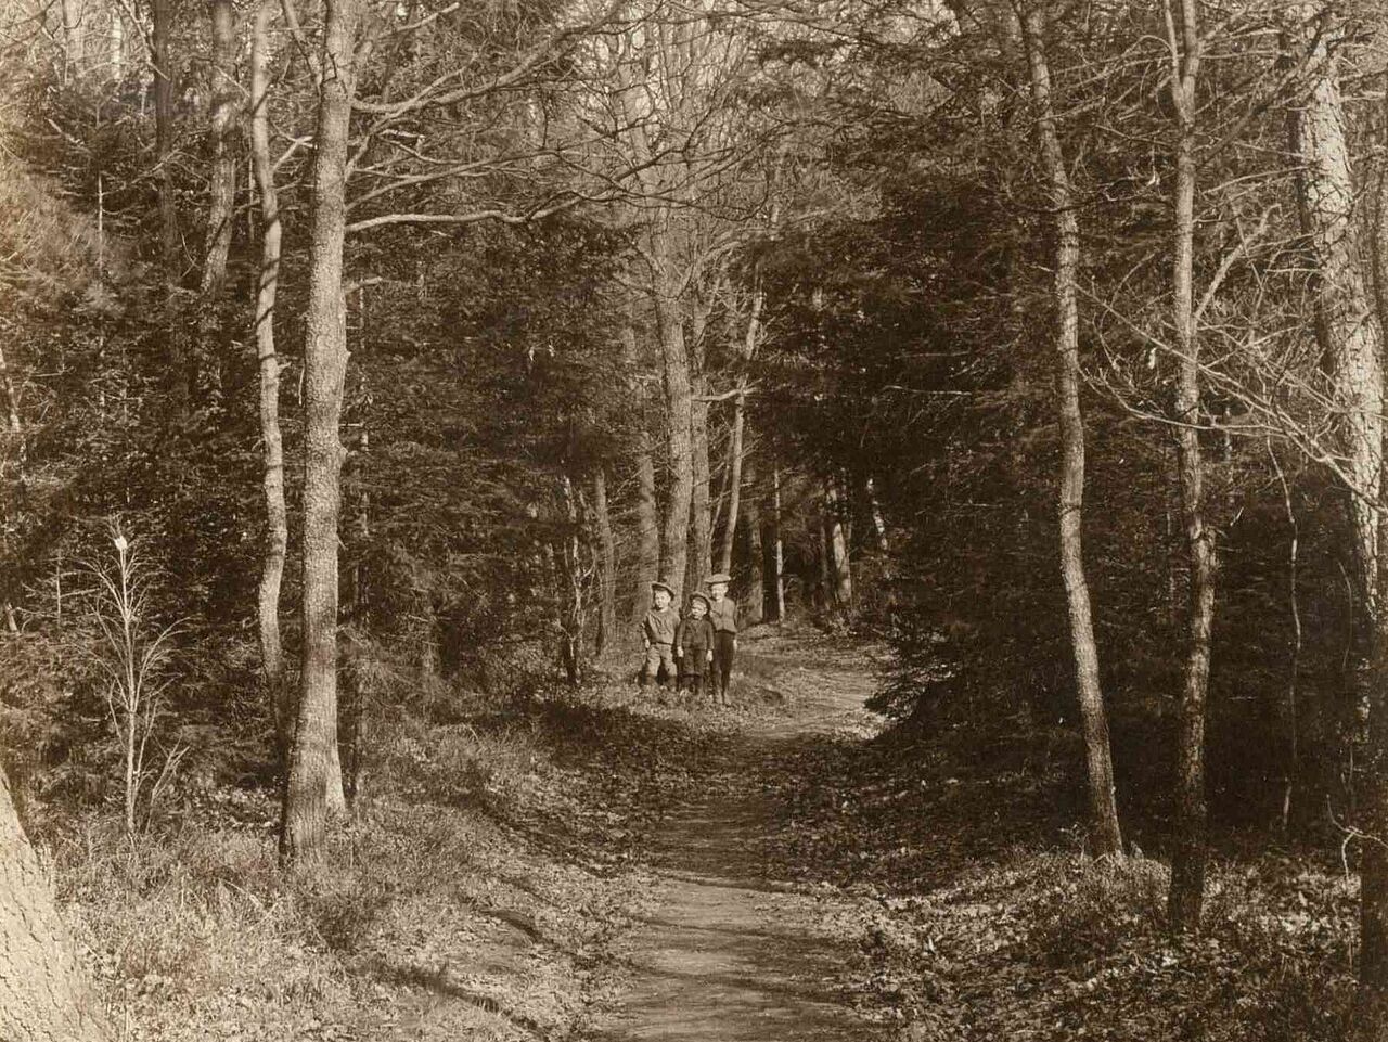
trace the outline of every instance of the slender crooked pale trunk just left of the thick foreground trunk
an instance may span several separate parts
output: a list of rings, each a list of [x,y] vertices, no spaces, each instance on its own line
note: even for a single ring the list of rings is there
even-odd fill
[[[261,680],[275,713],[282,767],[287,766],[293,705],[285,684],[279,635],[279,590],[289,552],[289,511],[285,505],[285,441],[279,427],[279,355],[275,351],[275,296],[279,290],[279,193],[269,154],[269,26],[278,0],[261,0],[251,37],[251,157],[261,196],[261,268],[255,294],[255,354],[260,361],[261,461],[265,491],[265,549],[261,558],[260,617]]]

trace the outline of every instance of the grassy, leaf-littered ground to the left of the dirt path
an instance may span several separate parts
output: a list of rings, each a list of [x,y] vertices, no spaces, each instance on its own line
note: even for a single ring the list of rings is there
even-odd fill
[[[641,909],[634,851],[706,742],[686,706],[634,699],[379,712],[326,869],[279,869],[269,789],[186,791],[146,835],[108,812],[54,823],[61,896],[125,1036],[577,1036]]]

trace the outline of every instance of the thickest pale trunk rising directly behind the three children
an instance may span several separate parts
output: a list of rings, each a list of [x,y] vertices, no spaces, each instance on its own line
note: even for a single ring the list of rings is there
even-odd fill
[[[665,512],[661,574],[675,590],[675,604],[683,604],[694,498],[694,450],[690,444],[694,409],[684,323],[679,302],[666,296],[663,286],[655,293],[655,325],[665,362],[665,405],[670,438],[670,501]]]

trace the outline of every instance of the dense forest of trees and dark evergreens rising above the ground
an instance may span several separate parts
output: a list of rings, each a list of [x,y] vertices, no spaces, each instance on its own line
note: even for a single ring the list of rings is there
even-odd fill
[[[32,837],[233,785],[330,864],[403,716],[634,683],[729,570],[1177,932],[1212,846],[1344,857],[1388,1036],[1380,6],[3,10]]]

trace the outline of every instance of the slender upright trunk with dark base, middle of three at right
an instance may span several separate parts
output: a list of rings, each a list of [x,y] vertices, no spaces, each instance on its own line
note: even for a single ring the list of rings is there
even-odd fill
[[[1167,0],[1170,1],[1170,0]],[[1198,0],[1180,3],[1180,75],[1171,80],[1176,108],[1176,234],[1171,251],[1176,326],[1176,456],[1181,522],[1190,563],[1188,651],[1176,737],[1176,820],[1167,912],[1171,930],[1199,930],[1205,902],[1206,802],[1205,716],[1209,694],[1210,630],[1214,620],[1214,533],[1205,523],[1205,465],[1201,455],[1199,337],[1194,305],[1195,107],[1201,62]],[[1176,19],[1173,19],[1174,24]]]

